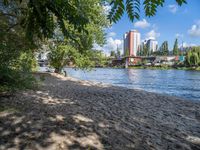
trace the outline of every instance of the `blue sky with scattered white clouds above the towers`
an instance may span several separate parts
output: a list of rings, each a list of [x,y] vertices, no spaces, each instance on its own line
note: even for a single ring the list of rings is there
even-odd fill
[[[200,45],[200,0],[187,0],[188,3],[179,7],[175,0],[166,0],[164,7],[159,7],[153,17],[145,17],[140,13],[140,20],[133,23],[125,14],[120,21],[107,29],[107,44],[104,51],[115,50],[116,45],[122,48],[123,34],[131,29],[137,29],[141,33],[141,39],[154,37],[159,46],[167,40],[170,49],[175,38],[184,46]],[[142,10],[142,9],[141,9]]]

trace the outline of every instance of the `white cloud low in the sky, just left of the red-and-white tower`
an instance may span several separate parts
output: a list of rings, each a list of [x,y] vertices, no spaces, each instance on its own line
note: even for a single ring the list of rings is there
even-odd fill
[[[102,50],[107,56],[110,55],[110,51],[116,51],[117,47],[121,50],[122,54],[123,41],[120,39],[114,39],[113,37],[108,37],[106,44],[101,47],[98,44],[94,44],[94,49]]]

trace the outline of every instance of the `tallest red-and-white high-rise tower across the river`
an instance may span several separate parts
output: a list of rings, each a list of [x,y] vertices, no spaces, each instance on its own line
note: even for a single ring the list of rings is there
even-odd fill
[[[131,30],[124,34],[124,56],[137,56],[140,51],[140,33]]]

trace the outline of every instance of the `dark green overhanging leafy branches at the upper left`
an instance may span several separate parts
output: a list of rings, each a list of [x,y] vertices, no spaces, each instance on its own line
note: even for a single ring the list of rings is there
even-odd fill
[[[32,40],[34,36],[53,37],[56,25],[65,36],[71,36],[65,26],[65,21],[73,25],[76,30],[83,30],[84,26],[90,22],[86,13],[97,4],[87,5],[87,2],[88,0],[4,0],[3,6],[8,8],[15,4],[14,15],[21,15],[17,23],[26,30],[27,37]]]

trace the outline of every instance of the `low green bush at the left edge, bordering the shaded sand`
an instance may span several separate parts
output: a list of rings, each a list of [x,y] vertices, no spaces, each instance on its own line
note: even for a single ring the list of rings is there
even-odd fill
[[[35,88],[36,79],[31,74],[37,68],[36,59],[31,51],[21,52],[18,57],[0,65],[0,92],[13,92]]]

